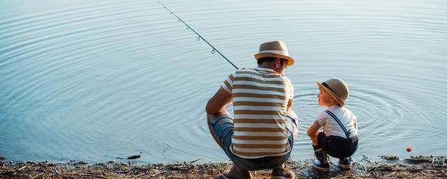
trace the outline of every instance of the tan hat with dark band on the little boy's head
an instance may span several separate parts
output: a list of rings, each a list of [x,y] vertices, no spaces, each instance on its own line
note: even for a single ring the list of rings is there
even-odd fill
[[[344,101],[346,101],[349,96],[349,88],[346,81],[332,77],[321,84],[318,82],[316,84],[318,84],[318,87],[323,87],[323,89],[328,92],[330,96],[334,97],[340,106],[344,106]]]

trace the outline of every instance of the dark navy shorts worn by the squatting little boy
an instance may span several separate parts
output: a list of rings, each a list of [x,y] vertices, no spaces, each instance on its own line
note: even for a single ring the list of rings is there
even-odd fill
[[[352,138],[326,136],[324,132],[318,134],[316,141],[326,154],[339,159],[351,157],[358,148],[358,138],[353,141]]]

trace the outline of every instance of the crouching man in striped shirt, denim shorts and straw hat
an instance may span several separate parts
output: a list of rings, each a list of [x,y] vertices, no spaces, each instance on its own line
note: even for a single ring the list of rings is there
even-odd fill
[[[284,76],[295,62],[286,43],[261,44],[258,67],[228,76],[206,106],[214,140],[234,165],[223,178],[251,178],[249,171],[272,169],[271,178],[295,178],[286,167],[298,134],[298,117],[291,110],[293,86]],[[233,101],[234,120],[226,111]]]

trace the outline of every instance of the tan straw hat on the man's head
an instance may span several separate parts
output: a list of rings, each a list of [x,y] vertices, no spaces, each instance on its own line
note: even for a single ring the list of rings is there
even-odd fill
[[[288,59],[287,66],[291,66],[295,63],[292,57],[288,57],[287,45],[283,41],[271,41],[263,43],[259,46],[259,53],[254,55],[256,60],[262,57],[277,57],[282,59]]]

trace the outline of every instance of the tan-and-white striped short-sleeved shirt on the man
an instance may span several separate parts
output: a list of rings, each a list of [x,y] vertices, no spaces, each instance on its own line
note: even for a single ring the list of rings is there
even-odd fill
[[[291,150],[284,121],[287,103],[293,100],[288,78],[272,69],[241,69],[231,73],[221,87],[233,98],[233,154],[256,159]]]

